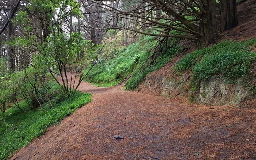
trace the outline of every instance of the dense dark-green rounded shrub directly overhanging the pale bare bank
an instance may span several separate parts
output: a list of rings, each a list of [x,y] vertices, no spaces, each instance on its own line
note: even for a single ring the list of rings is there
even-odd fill
[[[235,80],[237,77],[245,77],[249,73],[252,61],[255,60],[256,54],[247,50],[222,52],[203,58],[192,71],[200,80],[209,79],[216,74]]]

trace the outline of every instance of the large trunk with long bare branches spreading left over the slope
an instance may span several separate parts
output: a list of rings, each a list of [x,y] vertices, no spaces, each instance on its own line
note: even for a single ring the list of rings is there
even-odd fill
[[[199,48],[205,45],[215,43],[218,37],[217,34],[217,16],[216,16],[216,1],[215,0],[203,0],[200,6],[203,11],[202,20],[200,21],[200,42]]]

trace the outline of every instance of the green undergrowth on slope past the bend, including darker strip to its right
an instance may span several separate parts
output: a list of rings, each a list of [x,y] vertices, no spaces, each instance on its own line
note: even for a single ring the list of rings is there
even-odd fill
[[[96,86],[108,87],[119,84],[131,74],[126,89],[136,89],[150,72],[161,68],[178,52],[177,39],[169,38],[168,46],[171,46],[171,48],[164,54],[160,54],[153,65],[149,65],[150,61],[147,62],[147,60],[153,54],[157,41],[154,36],[144,36],[136,43],[119,50],[116,54],[112,54],[114,55],[112,58],[101,59],[92,68],[85,80]],[[141,68],[142,66],[143,68]],[[84,70],[85,74],[89,68]]]

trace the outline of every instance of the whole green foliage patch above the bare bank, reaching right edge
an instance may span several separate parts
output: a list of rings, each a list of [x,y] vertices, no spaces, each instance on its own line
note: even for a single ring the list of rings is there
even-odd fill
[[[192,69],[195,79],[209,79],[214,75],[222,75],[228,81],[235,82],[239,77],[246,77],[256,61],[256,54],[249,45],[256,40],[246,42],[223,41],[201,50],[185,55],[175,66],[176,71]]]

